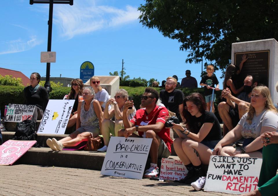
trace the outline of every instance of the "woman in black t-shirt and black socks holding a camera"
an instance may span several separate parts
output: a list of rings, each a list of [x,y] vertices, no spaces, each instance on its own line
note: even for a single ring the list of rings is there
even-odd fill
[[[172,123],[172,128],[179,136],[174,140],[175,152],[188,170],[180,183],[190,184],[206,176],[202,164],[209,164],[212,150],[221,139],[221,128],[215,115],[206,111],[206,103],[200,93],[186,96],[183,106],[186,127]]]

